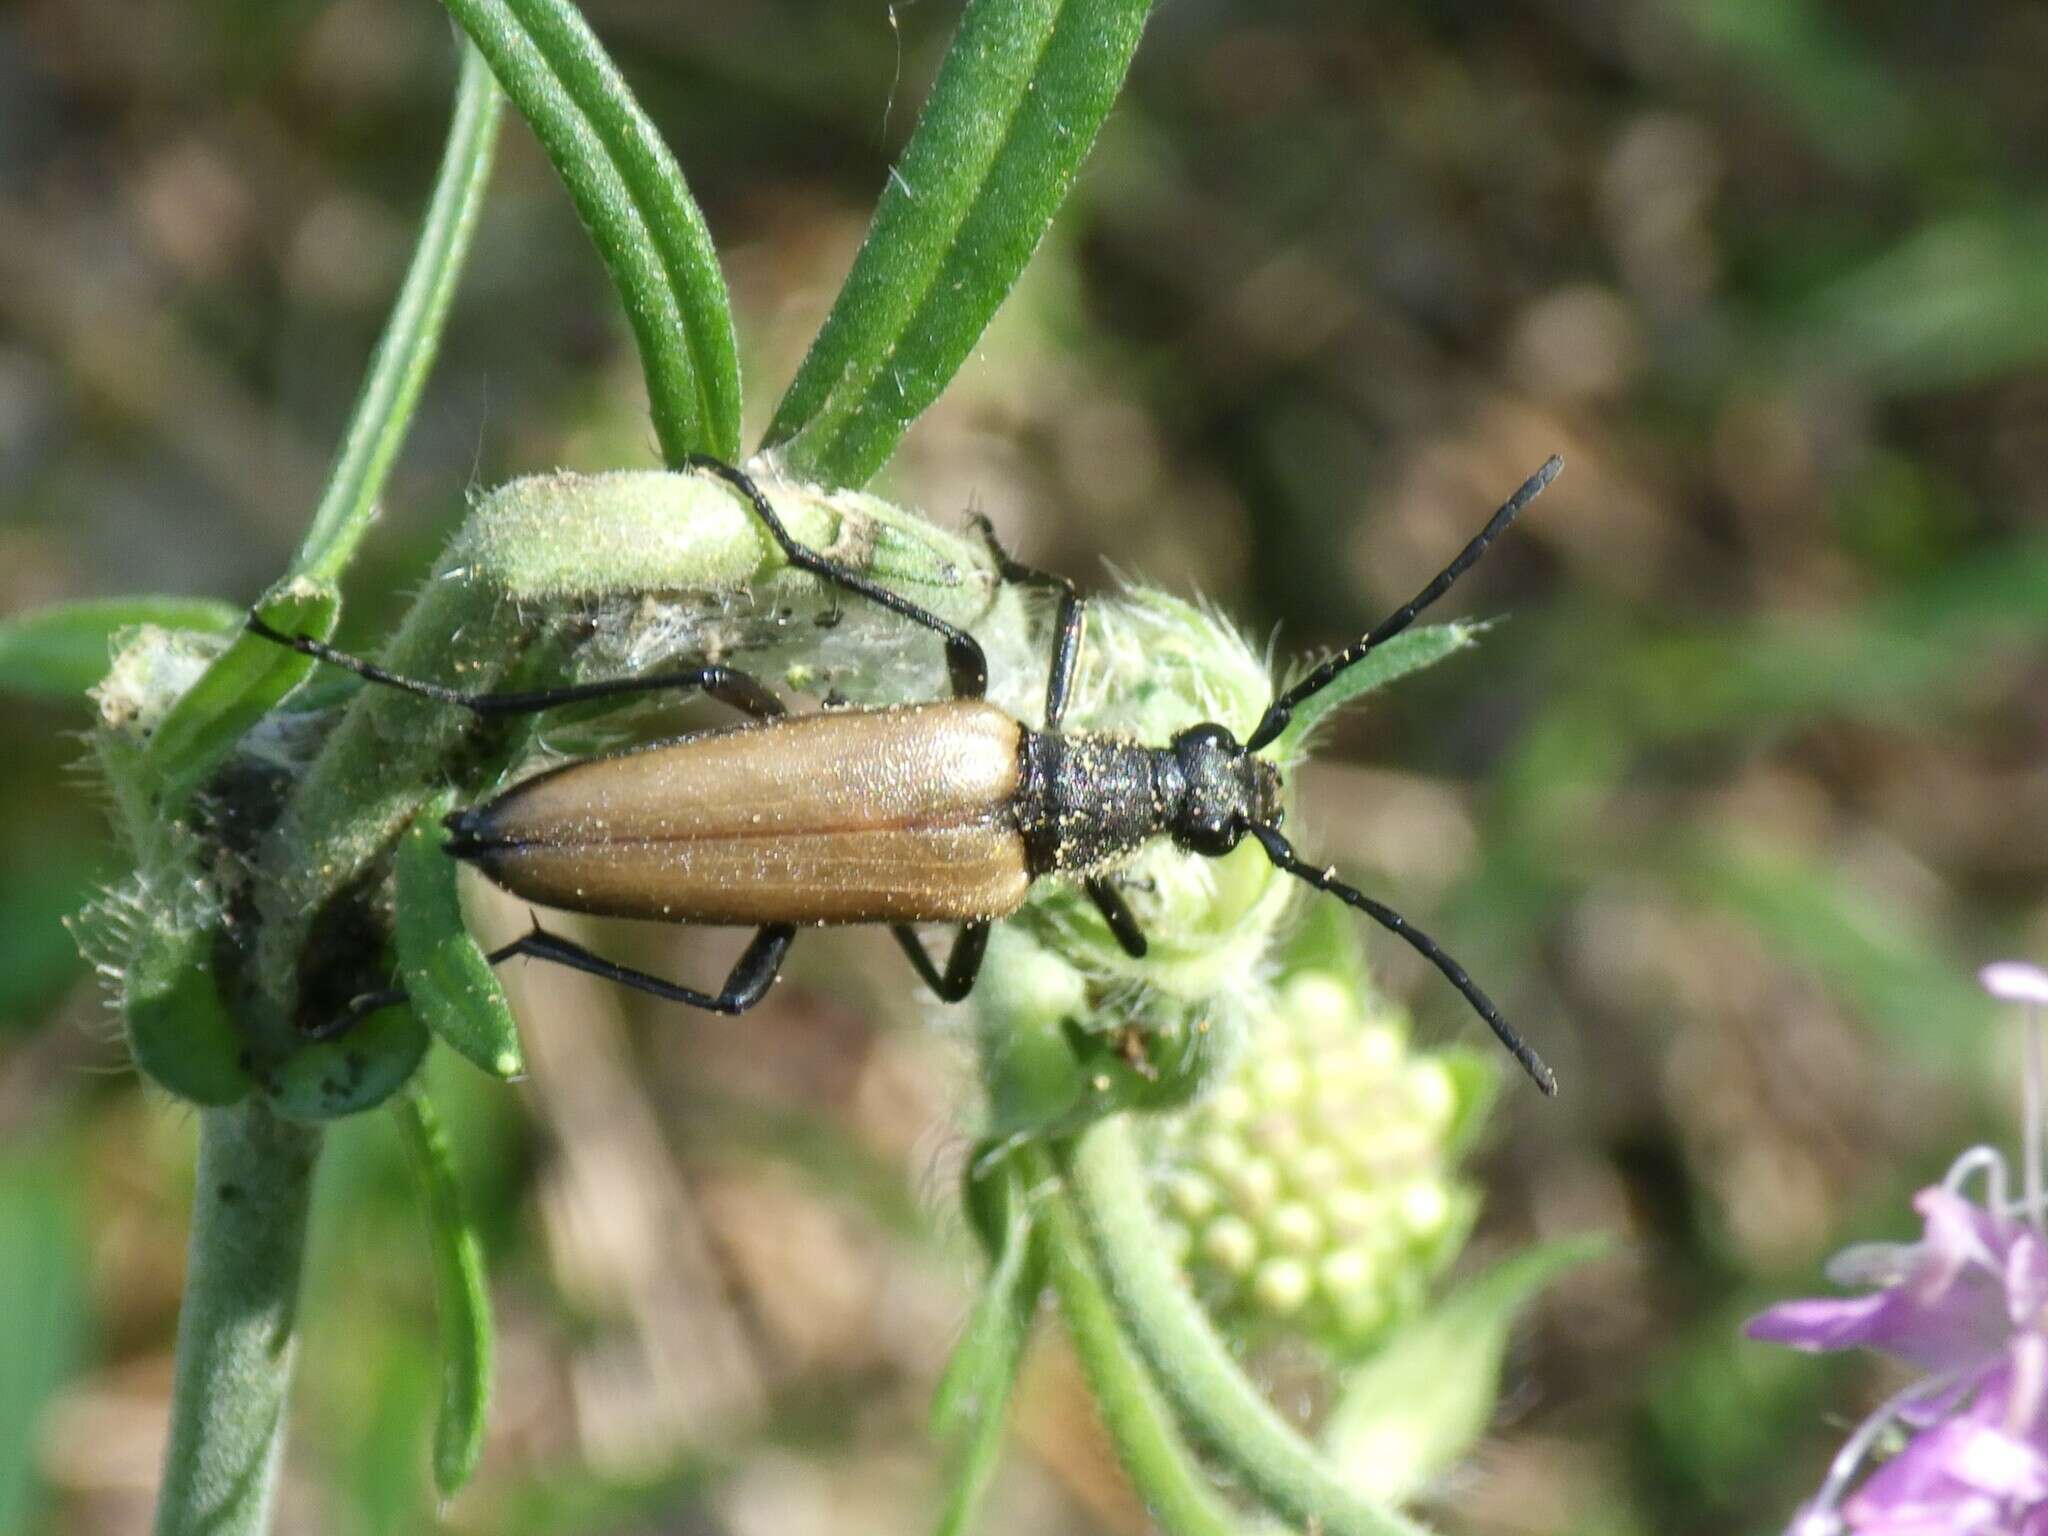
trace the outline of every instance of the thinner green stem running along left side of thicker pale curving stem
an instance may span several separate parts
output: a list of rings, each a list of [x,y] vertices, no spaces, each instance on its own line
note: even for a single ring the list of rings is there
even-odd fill
[[[1042,1147],[1018,1153],[1026,1180],[1040,1190],[1038,1235],[1059,1296],[1067,1335],[1096,1395],[1102,1427],[1151,1518],[1169,1536],[1237,1536],[1239,1524],[1196,1464],[1174,1425],[1159,1386],[1133,1350],[1108,1286],[1087,1249],[1087,1235]]]

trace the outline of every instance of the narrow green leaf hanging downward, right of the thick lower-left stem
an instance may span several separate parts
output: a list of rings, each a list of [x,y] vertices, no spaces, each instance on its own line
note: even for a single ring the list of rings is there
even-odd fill
[[[440,1118],[424,1094],[391,1104],[408,1159],[426,1202],[426,1237],[434,1257],[440,1313],[440,1417],[434,1423],[434,1487],[444,1499],[477,1470],[483,1419],[492,1395],[492,1298],[483,1284],[483,1249],[463,1210],[455,1161]]]

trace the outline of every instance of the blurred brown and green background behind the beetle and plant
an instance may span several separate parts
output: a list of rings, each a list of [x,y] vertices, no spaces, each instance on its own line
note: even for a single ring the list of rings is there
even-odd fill
[[[956,18],[594,0],[723,246],[762,424]],[[0,612],[248,600],[397,285],[453,43],[426,0],[0,8]],[[885,489],[1202,592],[1280,655],[1460,590],[1477,659],[1335,731],[1313,846],[1440,932],[1567,1092],[1505,1100],[1481,1245],[1624,1255],[1526,1331],[1470,1532],[1772,1530],[1882,1391],[1737,1339],[1972,1139],[2017,1139],[1985,958],[2048,958],[2048,12],[1870,0],[1171,0],[1024,287]],[[653,463],[598,262],[512,123],[348,588],[369,641],[463,496]],[[0,1528],[156,1477],[190,1118],[59,918],[111,874],[82,711],[0,762]],[[637,938],[707,971],[727,940]],[[1454,999],[1374,940],[1425,1038]],[[475,1532],[928,1526],[973,1282],[969,1087],[893,948],[743,1024],[518,981],[535,1077],[444,1073],[502,1311]],[[432,1296],[395,1141],[334,1137],[287,1530],[432,1520]],[[1042,1350],[991,1532],[1143,1530]]]

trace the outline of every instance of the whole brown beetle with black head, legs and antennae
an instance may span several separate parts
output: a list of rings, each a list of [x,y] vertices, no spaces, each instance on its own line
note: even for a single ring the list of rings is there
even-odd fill
[[[989,670],[973,635],[799,545],[745,471],[713,459],[692,467],[745,496],[791,565],[934,631],[946,647],[952,698],[793,717],[760,682],[725,666],[545,692],[463,694],[250,618],[266,639],[479,717],[655,690],[707,692],[752,717],[733,729],[563,764],[449,819],[449,852],[530,901],[616,918],[758,926],[717,993],[614,965],[539,928],[496,950],[494,961],[555,961],[692,1008],[739,1014],[766,995],[799,926],[889,924],[918,975],[946,1001],[958,1001],[975,985],[989,924],[1016,911],[1032,881],[1079,881],[1116,942],[1141,956],[1145,934],[1112,870],[1153,838],[1171,838],[1204,858],[1251,838],[1276,868],[1419,950],[1530,1077],[1546,1094],[1556,1092],[1550,1069],[1436,940],[1335,870],[1296,856],[1280,836],[1280,770],[1257,754],[1303,700],[1444,596],[1550,483],[1561,459],[1530,475],[1413,600],[1274,698],[1249,739],[1206,723],[1163,748],[1061,731],[1085,614],[1065,578],[1018,565],[989,539],[1004,580],[1059,594],[1044,723],[1032,729],[983,698]],[[911,928],[924,922],[961,924],[944,971]],[[350,1018],[397,997],[362,997]]]

